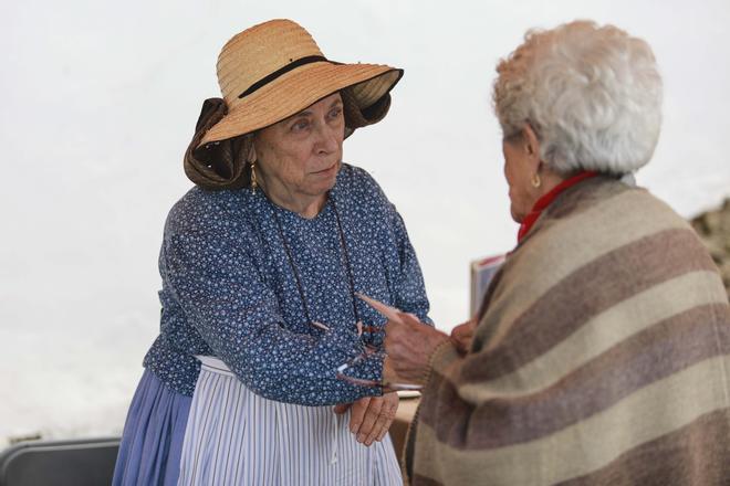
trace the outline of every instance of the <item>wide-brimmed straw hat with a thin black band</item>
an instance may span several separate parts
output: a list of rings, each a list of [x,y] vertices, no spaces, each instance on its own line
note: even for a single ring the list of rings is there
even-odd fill
[[[281,122],[344,88],[350,98],[346,104],[355,103],[365,114],[368,107],[380,105],[380,116],[369,120],[377,122],[385,116],[388,92],[401,75],[403,70],[386,65],[328,61],[295,22],[263,22],[233,36],[220,52],[218,84],[227,114],[202,135],[197,147]],[[354,128],[348,127],[347,135]]]

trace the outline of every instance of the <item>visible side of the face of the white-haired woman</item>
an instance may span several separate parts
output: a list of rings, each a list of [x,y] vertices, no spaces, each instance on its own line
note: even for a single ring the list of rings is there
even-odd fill
[[[503,139],[502,154],[504,154],[504,178],[510,187],[510,212],[512,219],[521,223],[539,199],[531,184],[530,158],[522,137]]]

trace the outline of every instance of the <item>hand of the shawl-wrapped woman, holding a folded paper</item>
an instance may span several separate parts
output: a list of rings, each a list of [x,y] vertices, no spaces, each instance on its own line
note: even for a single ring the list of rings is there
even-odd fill
[[[385,325],[387,358],[383,379],[424,384],[430,356],[441,342],[449,340],[449,336],[425,326],[413,314],[399,313],[397,317]]]

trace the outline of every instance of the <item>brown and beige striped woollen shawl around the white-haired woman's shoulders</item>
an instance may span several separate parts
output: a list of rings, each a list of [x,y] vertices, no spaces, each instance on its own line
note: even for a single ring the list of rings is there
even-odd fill
[[[432,358],[413,484],[730,484],[730,307],[668,207],[569,189],[486,299],[469,353]]]

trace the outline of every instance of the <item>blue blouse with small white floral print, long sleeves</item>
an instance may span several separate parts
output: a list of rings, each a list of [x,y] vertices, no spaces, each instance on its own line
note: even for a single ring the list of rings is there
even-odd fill
[[[312,320],[328,330],[307,321],[294,268]],[[353,300],[365,325],[385,324],[352,295],[348,272],[355,292],[430,324],[400,215],[366,171],[348,165],[310,220],[261,191],[191,189],[168,215],[159,271],[160,334],[144,366],[186,395],[200,370],[195,355],[218,357],[271,400],[325,405],[379,394],[336,378],[337,367],[359,355],[363,341],[383,340],[382,331],[357,336]],[[376,353],[347,373],[379,381],[382,368]]]

